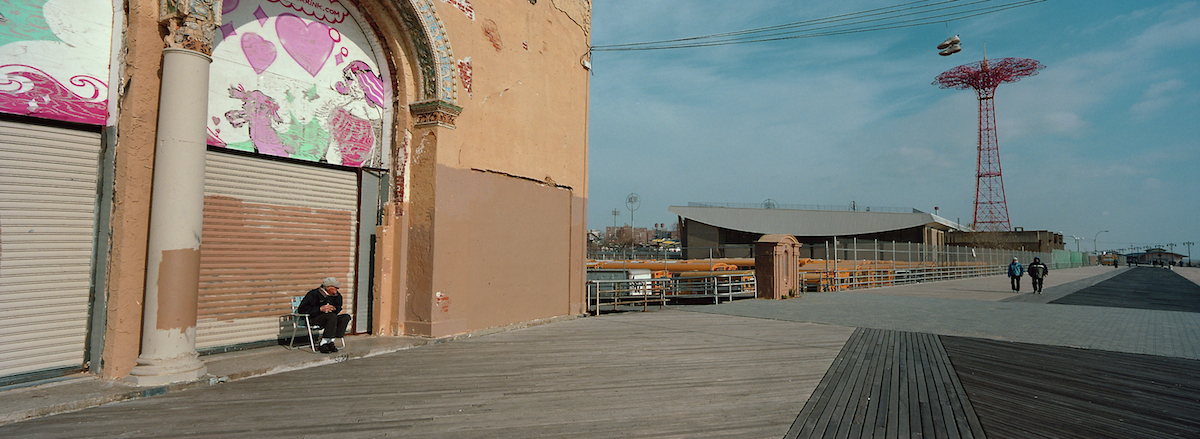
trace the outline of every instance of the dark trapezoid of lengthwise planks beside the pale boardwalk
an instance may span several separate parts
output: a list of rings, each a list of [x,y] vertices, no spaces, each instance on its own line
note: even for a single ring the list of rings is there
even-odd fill
[[[859,329],[785,438],[984,438],[938,337]]]

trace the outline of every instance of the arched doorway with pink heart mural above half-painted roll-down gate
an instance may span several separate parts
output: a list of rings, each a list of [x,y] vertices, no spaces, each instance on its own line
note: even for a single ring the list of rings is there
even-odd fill
[[[440,30],[432,5],[227,0],[222,22],[197,349],[274,341],[290,296],[325,276],[349,287],[354,331],[370,331],[371,275],[386,270],[372,270],[374,225],[407,194],[413,126],[401,102],[406,90],[454,96],[452,76],[432,78],[449,55],[444,32],[444,47],[428,43]]]

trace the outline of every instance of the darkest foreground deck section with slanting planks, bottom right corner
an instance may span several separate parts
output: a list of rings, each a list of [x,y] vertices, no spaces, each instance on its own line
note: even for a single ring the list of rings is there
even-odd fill
[[[1200,361],[941,338],[994,438],[1200,437]]]

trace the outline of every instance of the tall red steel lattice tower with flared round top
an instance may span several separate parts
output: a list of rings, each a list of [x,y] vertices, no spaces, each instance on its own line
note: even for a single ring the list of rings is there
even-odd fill
[[[1008,231],[1008,204],[1004,202],[1004,178],[1000,172],[1000,143],[996,140],[996,108],[992,97],[1003,83],[1015,83],[1038,74],[1042,62],[1025,58],[1001,58],[961,65],[937,76],[934,85],[942,89],[974,89],[979,97],[979,160],[976,168],[974,229]]]

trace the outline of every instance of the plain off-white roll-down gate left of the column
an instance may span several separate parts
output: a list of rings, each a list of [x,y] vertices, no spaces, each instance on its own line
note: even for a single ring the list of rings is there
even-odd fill
[[[79,371],[101,136],[0,121],[0,384]]]

